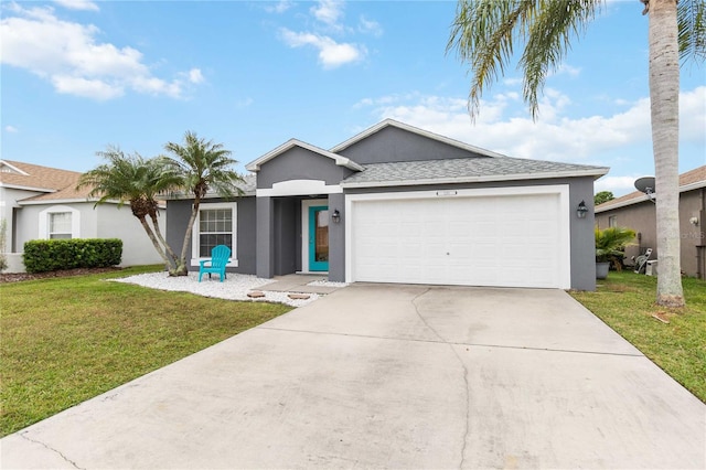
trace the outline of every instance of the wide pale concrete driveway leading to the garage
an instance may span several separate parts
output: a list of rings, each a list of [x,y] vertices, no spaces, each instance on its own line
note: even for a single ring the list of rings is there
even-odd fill
[[[353,285],[0,441],[10,468],[705,468],[706,405],[559,290]]]

